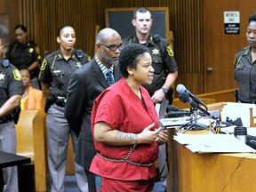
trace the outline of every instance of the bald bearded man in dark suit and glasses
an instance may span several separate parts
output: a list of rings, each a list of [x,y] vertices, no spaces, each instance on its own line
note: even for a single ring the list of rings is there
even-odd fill
[[[76,132],[76,163],[84,167],[89,191],[96,191],[94,174],[89,172],[96,151],[92,140],[91,113],[94,100],[121,78],[118,57],[124,47],[121,36],[112,28],[100,30],[96,37],[96,54],[93,59],[76,70],[68,84],[65,116]],[[112,80],[108,83],[108,80]]]

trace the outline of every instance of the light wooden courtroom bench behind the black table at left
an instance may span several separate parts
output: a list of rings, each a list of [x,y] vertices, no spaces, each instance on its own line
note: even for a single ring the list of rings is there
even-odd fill
[[[35,168],[36,191],[46,191],[47,133],[44,109],[22,110],[16,127],[17,154],[31,158]],[[71,138],[68,143],[66,174],[74,174],[73,148]]]

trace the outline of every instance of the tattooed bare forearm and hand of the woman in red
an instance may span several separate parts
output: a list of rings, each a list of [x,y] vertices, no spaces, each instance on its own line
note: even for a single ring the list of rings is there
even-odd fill
[[[160,131],[160,128],[152,130],[154,126],[155,123],[149,124],[142,132],[136,134],[113,130],[109,124],[101,121],[94,124],[94,138],[100,143],[112,146],[150,144],[156,140],[157,134]]]

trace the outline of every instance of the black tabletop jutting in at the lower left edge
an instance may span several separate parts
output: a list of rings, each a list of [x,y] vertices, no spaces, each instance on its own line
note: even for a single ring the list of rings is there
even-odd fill
[[[26,156],[18,156],[4,151],[0,151],[0,168],[29,164],[31,159]]]

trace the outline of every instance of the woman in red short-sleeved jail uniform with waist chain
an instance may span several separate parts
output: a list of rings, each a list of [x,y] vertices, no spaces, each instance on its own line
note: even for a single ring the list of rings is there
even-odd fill
[[[154,74],[148,48],[124,46],[119,56],[124,76],[102,92],[92,108],[92,134],[97,150],[90,171],[97,191],[152,191],[158,145],[167,140],[160,132],[156,110],[141,84]]]

